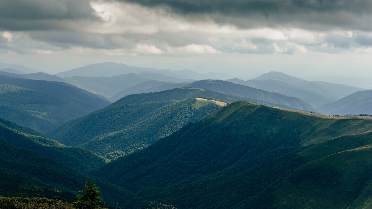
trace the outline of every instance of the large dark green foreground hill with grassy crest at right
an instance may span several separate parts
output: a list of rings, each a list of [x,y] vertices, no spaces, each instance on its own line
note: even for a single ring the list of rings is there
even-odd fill
[[[369,147],[361,149],[360,163],[352,152],[371,144],[370,130],[371,119],[238,101],[92,174],[124,186],[144,200],[169,202],[177,208],[307,208],[296,207],[295,201],[302,197],[295,193],[293,182],[302,185],[301,194],[307,192],[306,200],[314,203],[309,208],[322,204],[344,208],[344,203],[356,201],[362,191],[368,196],[364,188],[370,180]],[[340,141],[333,144],[334,140]],[[308,145],[312,143],[318,144]],[[346,149],[352,152],[342,157],[329,155],[332,150],[339,155]],[[312,170],[314,165],[321,167]],[[354,180],[349,182],[352,176]],[[347,184],[333,184],[339,181]],[[328,191],[329,185],[340,190]],[[334,199],[329,197],[331,193]],[[348,197],[350,194],[353,196]],[[287,196],[295,200],[285,202]],[[340,199],[343,202],[337,202]],[[145,206],[132,208],[140,207]]]

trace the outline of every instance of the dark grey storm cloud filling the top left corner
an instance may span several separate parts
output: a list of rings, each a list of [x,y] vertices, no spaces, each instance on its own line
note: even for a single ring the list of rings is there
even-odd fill
[[[62,20],[99,20],[89,0],[1,0],[0,29],[66,28]]]

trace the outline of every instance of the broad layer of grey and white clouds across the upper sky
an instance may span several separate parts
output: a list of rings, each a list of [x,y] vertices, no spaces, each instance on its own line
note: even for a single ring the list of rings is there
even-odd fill
[[[0,50],[19,54],[344,53],[372,45],[371,1],[14,0]]]

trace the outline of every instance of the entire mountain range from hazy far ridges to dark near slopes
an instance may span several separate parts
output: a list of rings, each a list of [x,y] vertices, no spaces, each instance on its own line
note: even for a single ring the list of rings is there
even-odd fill
[[[372,207],[372,90],[112,62],[59,75],[0,71],[0,196],[71,203],[93,178],[109,208]]]

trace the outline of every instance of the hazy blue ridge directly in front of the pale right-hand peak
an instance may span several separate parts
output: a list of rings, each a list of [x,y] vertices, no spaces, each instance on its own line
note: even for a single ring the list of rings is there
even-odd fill
[[[302,101],[308,103],[312,107],[319,107],[325,103],[333,102],[333,99],[325,97],[321,94],[317,94],[308,90],[299,89],[289,84],[276,81],[276,80],[247,80],[243,81],[238,78],[228,79],[232,83],[253,87],[256,89],[262,89],[265,91],[271,91],[275,93],[284,94],[286,96],[296,97]]]

